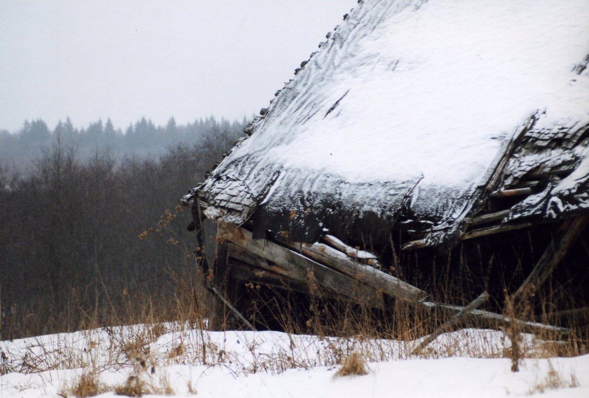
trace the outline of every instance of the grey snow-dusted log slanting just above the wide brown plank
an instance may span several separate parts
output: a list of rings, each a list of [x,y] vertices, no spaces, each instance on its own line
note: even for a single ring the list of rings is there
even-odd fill
[[[403,282],[401,279],[354,261],[330,246],[320,243],[306,244],[288,241],[284,241],[284,244],[398,300],[418,302],[424,300],[428,295],[425,291]]]

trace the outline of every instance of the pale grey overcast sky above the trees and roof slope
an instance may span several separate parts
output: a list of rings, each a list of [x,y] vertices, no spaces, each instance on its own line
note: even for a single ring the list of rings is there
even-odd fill
[[[0,0],[0,129],[267,106],[356,0]]]

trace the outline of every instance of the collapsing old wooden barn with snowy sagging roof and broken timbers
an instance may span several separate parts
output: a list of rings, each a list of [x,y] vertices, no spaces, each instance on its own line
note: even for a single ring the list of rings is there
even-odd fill
[[[573,246],[586,277],[589,4],[359,3],[183,198],[213,291],[231,307],[244,284],[312,278],[325,297],[462,314],[395,274],[399,258],[471,244],[482,264],[481,245],[522,236],[540,244],[509,294]]]

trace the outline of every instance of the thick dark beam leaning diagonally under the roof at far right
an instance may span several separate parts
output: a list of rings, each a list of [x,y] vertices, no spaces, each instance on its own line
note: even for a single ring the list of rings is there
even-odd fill
[[[538,287],[552,274],[554,268],[562,261],[568,249],[577,241],[577,238],[587,226],[588,219],[585,217],[575,217],[565,221],[558,232],[542,254],[540,260],[535,265],[530,275],[524,283],[515,291],[512,296],[521,298],[524,294],[530,294],[537,290]]]

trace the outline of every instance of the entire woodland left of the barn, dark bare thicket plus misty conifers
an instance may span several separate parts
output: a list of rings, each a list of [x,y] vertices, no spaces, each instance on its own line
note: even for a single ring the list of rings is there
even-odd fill
[[[194,125],[170,121],[161,129],[141,120],[124,135],[110,123],[78,132],[68,123],[53,132],[42,121],[25,123],[15,140],[38,146],[42,155],[25,175],[0,167],[2,339],[71,330],[89,308],[114,308],[125,295],[173,289],[170,274],[186,272],[186,252],[178,244],[194,244],[186,231],[191,216],[176,209],[178,199],[243,129],[239,123],[203,123],[209,129],[197,133]],[[111,143],[138,154],[160,146],[164,136],[171,140],[164,131],[198,137],[168,146],[159,157],[124,157],[105,144],[108,139],[97,138],[110,134]],[[80,154],[75,139],[84,134],[102,150]],[[149,228],[149,238],[140,239]]]

